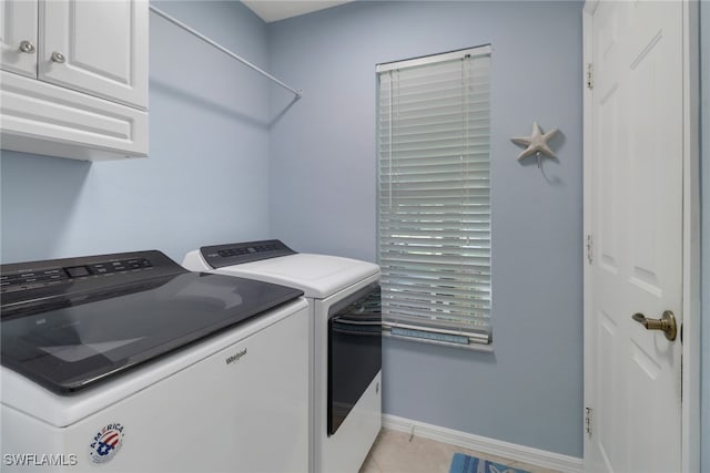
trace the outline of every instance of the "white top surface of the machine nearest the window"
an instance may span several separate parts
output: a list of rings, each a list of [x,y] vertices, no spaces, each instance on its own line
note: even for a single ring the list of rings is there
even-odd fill
[[[339,256],[300,253],[227,266],[217,271],[295,287],[306,297],[325,299],[365,278],[379,275],[379,266]]]

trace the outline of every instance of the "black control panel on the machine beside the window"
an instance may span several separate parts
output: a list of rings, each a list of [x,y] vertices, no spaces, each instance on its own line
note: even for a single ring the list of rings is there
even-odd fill
[[[207,265],[215,269],[296,254],[277,239],[203,246],[200,253]]]

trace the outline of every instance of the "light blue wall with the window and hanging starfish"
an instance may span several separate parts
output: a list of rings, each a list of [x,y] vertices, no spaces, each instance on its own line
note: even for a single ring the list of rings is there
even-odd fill
[[[304,91],[272,131],[272,233],[367,260],[375,64],[493,44],[495,353],[387,339],[384,410],[581,456],[581,2],[355,2],[268,32],[271,71]],[[545,175],[509,140],[532,121],[561,131]]]

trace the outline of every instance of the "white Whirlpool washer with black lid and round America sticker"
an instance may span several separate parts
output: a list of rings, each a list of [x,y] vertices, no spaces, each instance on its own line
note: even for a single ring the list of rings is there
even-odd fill
[[[306,472],[303,291],[160,251],[2,265],[2,472]]]

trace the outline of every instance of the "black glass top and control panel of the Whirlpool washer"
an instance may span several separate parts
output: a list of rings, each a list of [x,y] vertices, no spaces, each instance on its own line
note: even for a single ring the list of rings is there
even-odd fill
[[[189,273],[160,251],[2,265],[2,366],[60,394],[303,295]]]

